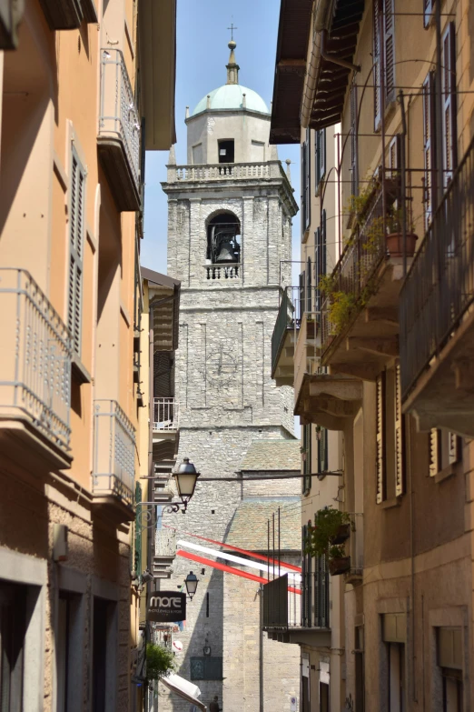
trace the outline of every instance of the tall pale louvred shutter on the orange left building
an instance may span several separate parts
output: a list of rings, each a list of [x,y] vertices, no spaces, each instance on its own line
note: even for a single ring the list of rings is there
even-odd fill
[[[84,187],[84,168],[73,148],[71,165],[71,202],[69,210],[69,286],[67,326],[73,339],[74,351],[79,356],[81,354],[83,298]]]

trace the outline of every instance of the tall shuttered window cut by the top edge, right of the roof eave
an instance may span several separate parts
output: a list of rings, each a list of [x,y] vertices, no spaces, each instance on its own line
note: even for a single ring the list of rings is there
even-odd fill
[[[394,0],[374,0],[373,3],[373,79],[374,124],[378,129],[382,106],[395,100],[395,15]],[[381,52],[385,60],[385,95],[381,95]]]

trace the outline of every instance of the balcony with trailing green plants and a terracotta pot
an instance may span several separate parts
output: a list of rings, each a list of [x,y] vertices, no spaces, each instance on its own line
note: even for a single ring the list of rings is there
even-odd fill
[[[387,179],[384,192],[389,210],[398,195],[396,182]],[[331,274],[330,295],[321,309],[321,366],[331,366],[332,375],[375,380],[399,354],[403,259],[388,251],[383,206],[377,183]]]

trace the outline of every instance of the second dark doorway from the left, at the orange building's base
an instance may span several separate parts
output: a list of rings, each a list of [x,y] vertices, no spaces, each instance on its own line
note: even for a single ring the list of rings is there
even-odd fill
[[[77,697],[77,665],[82,650],[80,606],[80,596],[60,591],[56,637],[56,712],[71,712],[80,707]],[[79,690],[79,695],[81,692]]]

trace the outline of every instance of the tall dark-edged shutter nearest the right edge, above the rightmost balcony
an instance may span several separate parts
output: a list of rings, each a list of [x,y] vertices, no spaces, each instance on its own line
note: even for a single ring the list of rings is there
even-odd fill
[[[443,186],[452,178],[458,163],[458,130],[456,119],[456,28],[450,22],[441,41]]]

